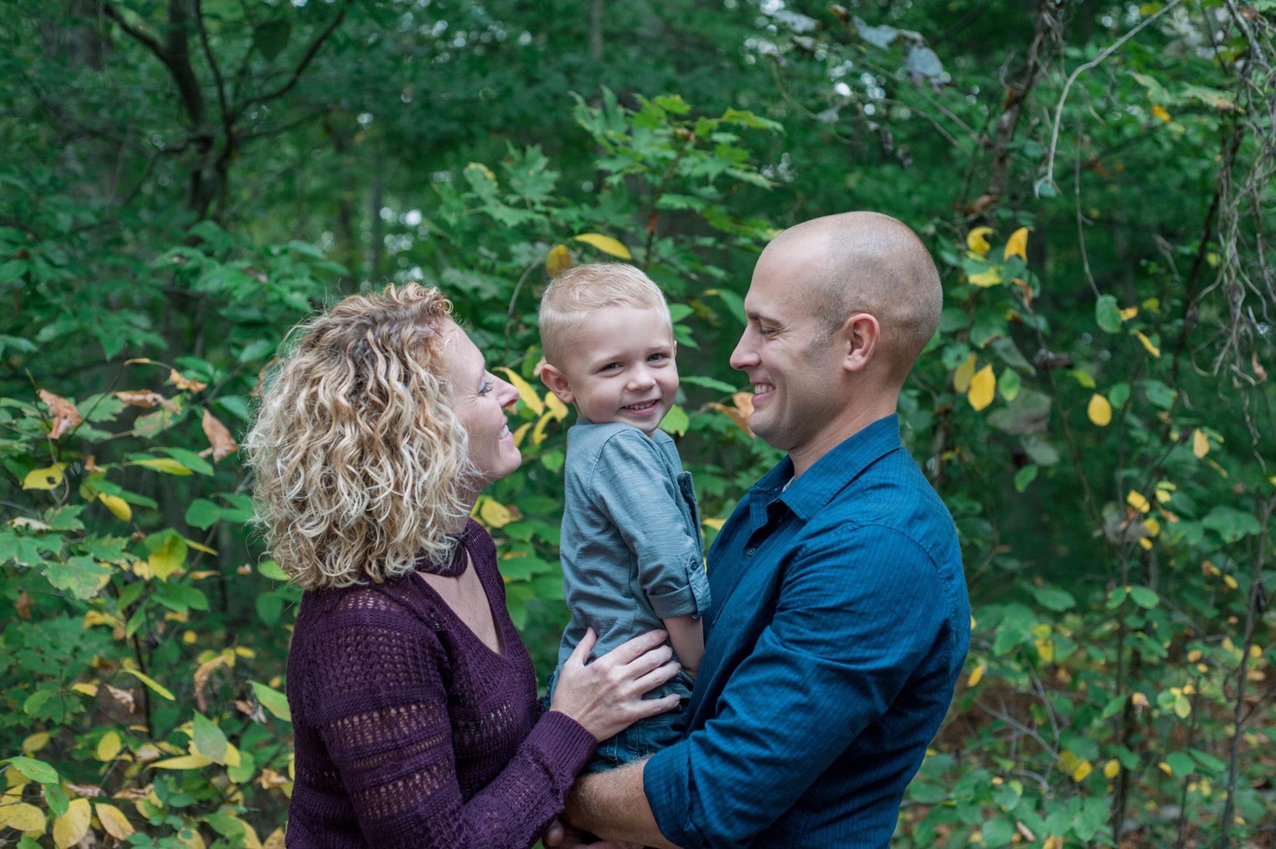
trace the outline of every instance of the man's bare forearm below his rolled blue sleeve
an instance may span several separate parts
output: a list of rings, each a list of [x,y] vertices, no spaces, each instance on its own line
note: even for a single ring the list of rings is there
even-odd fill
[[[607,840],[623,840],[657,849],[679,849],[665,839],[643,794],[646,760],[577,780],[563,817],[578,829]],[[570,844],[563,846],[570,849]]]

